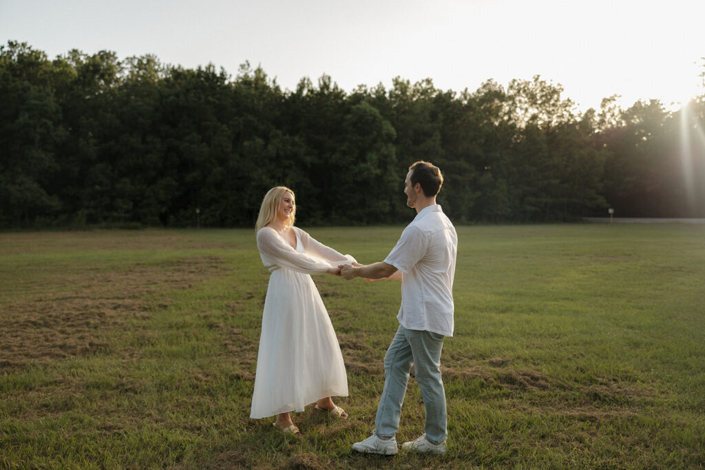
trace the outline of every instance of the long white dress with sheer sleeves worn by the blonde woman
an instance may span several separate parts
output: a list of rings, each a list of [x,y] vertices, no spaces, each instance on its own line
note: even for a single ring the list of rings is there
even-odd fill
[[[291,411],[325,397],[347,397],[348,377],[331,319],[310,274],[355,259],[293,227],[296,248],[276,230],[257,233],[269,269],[250,418]]]

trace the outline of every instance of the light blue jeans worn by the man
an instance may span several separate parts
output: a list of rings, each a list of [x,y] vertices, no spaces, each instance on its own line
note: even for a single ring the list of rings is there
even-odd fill
[[[374,421],[376,435],[393,437],[398,431],[401,405],[406,395],[411,364],[414,364],[426,411],[426,438],[433,444],[446,440],[446,390],[440,369],[443,338],[438,333],[407,330],[399,326],[384,356],[384,390]]]

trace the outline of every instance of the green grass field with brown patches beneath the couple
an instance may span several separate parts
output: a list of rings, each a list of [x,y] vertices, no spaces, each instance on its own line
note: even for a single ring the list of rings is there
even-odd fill
[[[364,263],[401,227],[314,228]],[[254,230],[0,234],[0,468],[703,468],[705,226],[459,227],[448,454],[360,455],[396,281],[315,276],[350,412],[249,419]],[[286,386],[286,384],[283,384]],[[422,433],[412,378],[398,441]]]

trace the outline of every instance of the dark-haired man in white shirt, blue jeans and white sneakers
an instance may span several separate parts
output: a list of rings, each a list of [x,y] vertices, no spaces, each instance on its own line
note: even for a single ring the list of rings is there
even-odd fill
[[[443,184],[438,167],[417,161],[409,168],[404,192],[417,216],[401,234],[396,247],[379,263],[341,266],[345,279],[401,279],[399,328],[384,357],[384,390],[377,407],[372,436],[353,450],[396,454],[401,407],[412,363],[426,412],[424,434],[403,444],[406,450],[446,452],[446,391],[441,380],[443,338],[453,336],[453,276],[458,235],[436,204]]]

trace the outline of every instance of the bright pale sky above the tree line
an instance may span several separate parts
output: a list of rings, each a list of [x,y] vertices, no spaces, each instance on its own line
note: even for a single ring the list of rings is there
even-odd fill
[[[235,76],[261,65],[283,89],[399,76],[474,91],[541,75],[579,109],[703,94],[705,0],[0,0],[0,39],[49,58],[79,49],[154,54]]]

